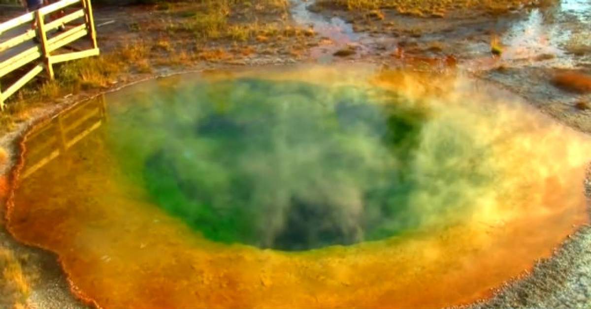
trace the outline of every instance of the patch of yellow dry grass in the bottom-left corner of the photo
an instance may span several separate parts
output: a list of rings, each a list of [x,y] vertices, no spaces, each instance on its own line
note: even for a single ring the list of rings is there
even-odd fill
[[[25,308],[31,287],[14,253],[0,248],[0,308]]]

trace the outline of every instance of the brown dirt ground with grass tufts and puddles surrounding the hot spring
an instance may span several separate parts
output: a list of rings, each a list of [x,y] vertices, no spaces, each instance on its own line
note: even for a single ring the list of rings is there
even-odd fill
[[[10,119],[0,129],[0,147],[6,153],[6,159],[0,160],[0,175],[8,175],[17,155],[15,141],[35,119],[75,102],[180,71],[269,64],[364,62],[391,69],[457,70],[517,93],[557,121],[591,134],[588,1],[452,7],[429,14],[388,6],[351,10],[326,2],[330,1],[293,0],[284,8],[270,2],[238,6],[227,13],[228,23],[217,28],[190,24],[205,9],[194,2],[96,6],[102,53],[124,55],[129,66],[96,87],[57,91],[52,97],[35,95],[35,89],[17,95]],[[21,13],[20,8],[2,7],[0,21]],[[137,46],[141,48],[134,49]],[[565,74],[574,74],[569,80],[580,87],[565,87],[561,82]],[[39,80],[37,85],[45,82]],[[0,178],[2,198],[2,181],[7,179]],[[591,182],[588,194],[589,186]],[[530,275],[509,282],[491,300],[472,307],[591,308],[590,248],[591,229],[584,227]],[[60,269],[56,256],[18,244],[1,228],[0,249],[11,252],[11,261],[20,265],[28,285],[20,290],[0,285],[0,307],[86,307],[70,294],[66,278],[56,271]],[[9,262],[3,264],[0,255],[3,265]]]

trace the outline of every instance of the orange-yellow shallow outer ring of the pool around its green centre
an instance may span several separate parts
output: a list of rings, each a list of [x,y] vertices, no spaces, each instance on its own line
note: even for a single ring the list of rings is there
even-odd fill
[[[316,76],[322,83],[345,78]],[[402,83],[388,74],[361,76],[388,89]],[[104,102],[96,101],[25,138],[9,230],[56,252],[74,290],[102,308],[439,308],[488,297],[589,222],[583,181],[591,143],[506,96],[491,99],[456,81],[447,95],[429,96],[418,85],[404,95],[421,96],[433,117],[415,155],[424,171],[417,177],[436,193],[413,195],[411,206],[427,212],[442,200],[461,201],[462,213],[423,217],[420,227],[387,239],[309,251],[215,242],[154,203],[141,180],[129,180],[105,138],[116,119],[106,120]],[[89,115],[82,124],[75,120],[81,115]],[[475,162],[421,156],[452,127],[478,136],[491,155]],[[446,164],[493,172],[478,190],[454,181],[461,191],[454,199],[444,194],[451,178],[437,174]]]

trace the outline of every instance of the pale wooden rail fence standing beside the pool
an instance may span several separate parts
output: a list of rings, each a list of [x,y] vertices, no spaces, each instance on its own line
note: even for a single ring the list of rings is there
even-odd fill
[[[77,5],[78,9],[46,23],[47,16],[74,5]],[[75,23],[77,19],[82,20],[82,23],[50,37],[50,31],[71,22]],[[36,25],[35,30],[33,30],[33,24]],[[99,54],[90,0],[61,0],[11,19],[0,24],[0,38],[8,31],[17,30],[19,27],[25,27],[24,33],[13,35],[0,43],[0,56],[9,55],[6,58],[0,57],[0,109],[2,110],[9,96],[14,95],[18,89],[42,71],[46,71],[49,79],[54,79],[53,64]],[[60,48],[84,37],[90,40],[88,50],[56,54]],[[3,90],[2,78],[30,63],[35,64],[33,69],[23,73],[20,79]]]

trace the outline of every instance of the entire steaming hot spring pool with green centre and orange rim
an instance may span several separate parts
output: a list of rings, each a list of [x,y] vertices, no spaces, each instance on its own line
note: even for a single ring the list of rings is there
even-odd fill
[[[589,222],[591,150],[476,86],[372,67],[138,84],[31,133],[8,226],[104,308],[474,301]]]

